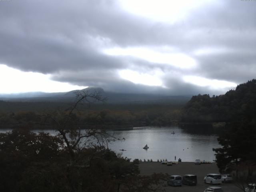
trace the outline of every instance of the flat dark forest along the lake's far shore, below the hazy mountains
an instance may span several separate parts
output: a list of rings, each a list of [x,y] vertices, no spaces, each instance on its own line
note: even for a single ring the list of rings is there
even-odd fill
[[[0,128],[20,124],[32,129],[48,129],[46,114],[62,111],[71,103],[0,101]],[[73,117],[81,127],[132,128],[135,126],[167,126],[180,121],[182,106],[175,104],[107,104],[80,106]]]

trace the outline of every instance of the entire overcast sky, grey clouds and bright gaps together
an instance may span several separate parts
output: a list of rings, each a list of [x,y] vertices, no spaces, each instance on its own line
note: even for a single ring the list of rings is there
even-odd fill
[[[256,78],[255,0],[0,0],[0,93],[224,94]]]

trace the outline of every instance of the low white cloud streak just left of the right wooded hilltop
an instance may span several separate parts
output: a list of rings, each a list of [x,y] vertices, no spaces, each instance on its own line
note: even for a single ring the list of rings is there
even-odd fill
[[[216,80],[216,79],[207,79],[198,76],[184,76],[183,80],[187,83],[194,84],[202,87],[209,87],[211,89],[224,89],[224,88],[233,88],[237,84],[234,82]]]

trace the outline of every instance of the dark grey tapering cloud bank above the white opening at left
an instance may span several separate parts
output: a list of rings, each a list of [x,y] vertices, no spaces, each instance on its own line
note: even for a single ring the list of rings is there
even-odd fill
[[[0,49],[0,62],[25,71],[52,73],[61,69],[90,67],[104,70],[122,66],[120,60],[102,55],[93,48],[79,48],[49,38],[5,38]]]

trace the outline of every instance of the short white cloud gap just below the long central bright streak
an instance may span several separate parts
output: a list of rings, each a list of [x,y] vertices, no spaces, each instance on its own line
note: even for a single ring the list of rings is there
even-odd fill
[[[159,78],[161,72],[156,72],[156,74],[145,74],[139,73],[133,70],[120,70],[119,75],[121,78],[133,82],[135,84],[143,84],[149,86],[163,86],[162,80]]]

